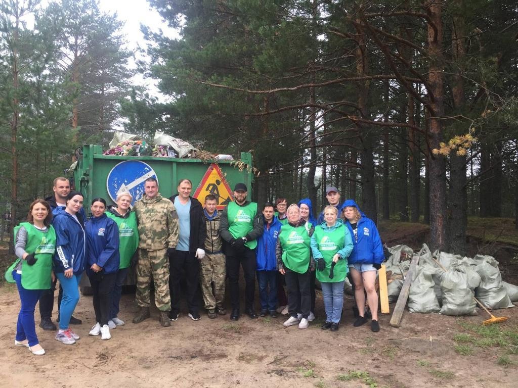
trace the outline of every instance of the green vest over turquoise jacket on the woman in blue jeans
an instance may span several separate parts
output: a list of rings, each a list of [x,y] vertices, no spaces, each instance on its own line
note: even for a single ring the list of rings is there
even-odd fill
[[[329,271],[331,269],[331,263],[333,262],[333,256],[343,248],[343,245],[346,242],[345,227],[346,226],[342,223],[342,225],[335,228],[332,232],[325,232],[321,226],[315,228],[313,236],[323,257],[319,260],[324,260],[325,262],[324,271],[316,271],[316,278],[319,279],[319,281],[332,283],[346,279],[348,272],[347,259],[338,260],[333,272],[333,279],[329,279]]]

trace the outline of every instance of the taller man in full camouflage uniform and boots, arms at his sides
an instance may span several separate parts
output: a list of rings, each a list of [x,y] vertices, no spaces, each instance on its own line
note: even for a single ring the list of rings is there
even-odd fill
[[[169,253],[178,244],[178,215],[175,206],[159,193],[158,182],[148,178],[144,183],[145,195],[135,203],[137,216],[138,263],[137,293],[135,300],[140,307],[133,323],[149,318],[150,286],[153,276],[155,304],[160,310],[160,324],[170,326],[168,312],[171,310],[169,294]]]

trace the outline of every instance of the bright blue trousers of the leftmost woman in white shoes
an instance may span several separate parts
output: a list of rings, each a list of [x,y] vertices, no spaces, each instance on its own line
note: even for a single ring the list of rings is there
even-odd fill
[[[36,336],[36,327],[34,324],[34,309],[38,303],[41,292],[44,290],[26,290],[22,286],[22,275],[12,272],[12,278],[16,280],[18,293],[20,294],[20,301],[22,307],[18,314],[18,322],[16,323],[16,340],[28,340],[29,346],[39,344]]]

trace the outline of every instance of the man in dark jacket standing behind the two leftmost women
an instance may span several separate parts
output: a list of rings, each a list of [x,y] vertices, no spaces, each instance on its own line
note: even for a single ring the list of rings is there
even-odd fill
[[[54,179],[54,184],[52,186],[52,190],[54,194],[50,197],[45,198],[45,200],[50,205],[50,210],[53,212],[56,207],[66,206],[66,197],[70,193],[70,182],[67,178],[63,176],[58,176]],[[84,209],[81,207],[81,210],[78,212],[78,217],[81,217],[82,222],[86,221],[86,215],[84,213]],[[56,278],[57,280],[57,278]],[[39,323],[39,327],[43,330],[54,331],[57,329],[56,325],[52,323],[52,308],[54,307],[54,290],[56,289],[56,280],[54,280],[50,289],[43,291],[41,296],[39,297],[39,314],[41,316],[41,322]],[[61,300],[63,299],[63,288],[60,285],[60,292],[57,294],[57,315],[59,317],[59,308],[61,305]],[[59,318],[57,319],[59,321]],[[80,325],[82,321],[75,317],[70,317],[70,324]]]

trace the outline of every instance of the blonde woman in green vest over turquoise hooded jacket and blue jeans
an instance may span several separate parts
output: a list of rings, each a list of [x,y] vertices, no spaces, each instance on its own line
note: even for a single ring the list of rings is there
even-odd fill
[[[338,209],[324,208],[324,222],[311,236],[311,250],[316,261],[316,278],[322,286],[326,320],[322,330],[338,330],[343,307],[343,283],[346,280],[347,258],[353,250],[349,229],[338,218]]]

